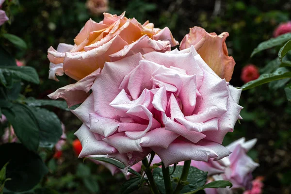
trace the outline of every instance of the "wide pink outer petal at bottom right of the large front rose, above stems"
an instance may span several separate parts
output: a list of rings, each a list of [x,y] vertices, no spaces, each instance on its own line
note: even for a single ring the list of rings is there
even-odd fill
[[[161,147],[151,147],[151,149],[159,155],[165,166],[187,160],[207,162],[210,158],[221,159],[230,154],[224,146],[203,140],[197,144],[174,141],[167,149]]]

